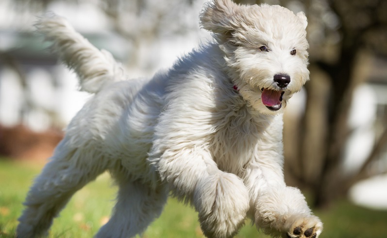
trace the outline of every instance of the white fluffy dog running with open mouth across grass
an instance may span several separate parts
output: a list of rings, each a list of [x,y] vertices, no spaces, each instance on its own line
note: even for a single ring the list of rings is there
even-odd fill
[[[119,190],[98,238],[144,232],[169,191],[198,211],[209,238],[233,237],[246,218],[273,237],[320,235],[321,221],[283,175],[283,108],[309,78],[305,15],[214,0],[200,19],[212,43],[166,73],[131,80],[63,18],[40,20],[81,89],[95,95],[32,186],[18,238],[45,235],[70,197],[105,170]]]

